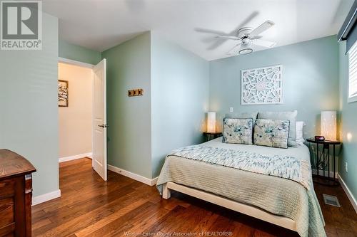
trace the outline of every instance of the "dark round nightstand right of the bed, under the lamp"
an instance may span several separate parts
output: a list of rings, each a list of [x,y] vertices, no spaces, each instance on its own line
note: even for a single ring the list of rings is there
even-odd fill
[[[329,141],[329,140],[316,140],[314,138],[309,138],[306,139],[306,141],[309,144],[309,147],[311,149],[311,144],[316,144],[316,161],[315,161],[315,166],[316,166],[316,174],[313,175],[316,179],[316,183],[318,184],[324,184],[324,185],[330,185],[330,186],[335,186],[338,185],[338,181],[336,179],[336,145],[341,144],[341,142],[338,141]],[[330,174],[330,150],[332,148],[332,172],[333,175]],[[322,167],[321,167],[322,165]],[[327,167],[326,167],[327,165]],[[312,164],[311,164],[312,166]],[[326,170],[327,168],[327,170]],[[322,174],[321,174],[322,173]],[[326,175],[327,173],[327,175]],[[320,179],[322,178],[322,181]]]

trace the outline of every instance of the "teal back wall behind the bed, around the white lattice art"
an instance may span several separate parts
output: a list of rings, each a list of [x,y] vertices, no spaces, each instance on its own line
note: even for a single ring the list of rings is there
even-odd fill
[[[241,105],[241,70],[283,65],[283,105]],[[210,62],[210,110],[218,122],[229,112],[298,110],[304,137],[320,132],[321,110],[338,110],[336,36]],[[219,125],[218,127],[220,127]],[[221,128],[220,128],[221,129]]]

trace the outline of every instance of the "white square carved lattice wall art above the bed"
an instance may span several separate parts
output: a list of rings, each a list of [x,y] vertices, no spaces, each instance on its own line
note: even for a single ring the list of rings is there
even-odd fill
[[[241,104],[282,104],[283,65],[241,70]]]

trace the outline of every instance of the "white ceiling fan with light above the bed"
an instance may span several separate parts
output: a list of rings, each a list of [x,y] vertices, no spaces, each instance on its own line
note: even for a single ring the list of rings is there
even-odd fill
[[[265,41],[261,39],[259,36],[260,33],[263,31],[268,30],[271,26],[274,26],[275,23],[273,21],[265,21],[257,28],[253,29],[251,27],[243,27],[236,31],[236,35],[226,35],[226,34],[216,34],[215,38],[223,39],[223,40],[233,40],[238,41],[239,43],[236,44],[227,54],[248,54],[253,52],[252,46],[260,46],[263,48],[272,48],[276,45],[275,42]],[[201,31],[202,32],[202,31]],[[213,31],[206,31],[206,33],[213,33]]]

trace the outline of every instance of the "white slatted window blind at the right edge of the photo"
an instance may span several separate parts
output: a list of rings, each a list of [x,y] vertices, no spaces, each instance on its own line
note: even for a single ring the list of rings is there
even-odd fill
[[[348,98],[357,98],[357,43],[348,52]]]

